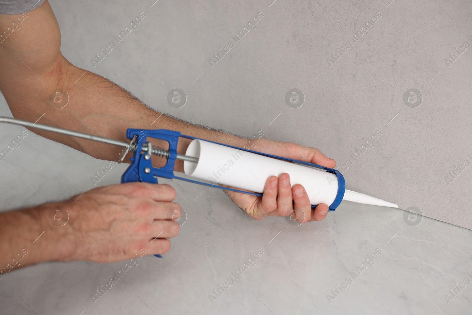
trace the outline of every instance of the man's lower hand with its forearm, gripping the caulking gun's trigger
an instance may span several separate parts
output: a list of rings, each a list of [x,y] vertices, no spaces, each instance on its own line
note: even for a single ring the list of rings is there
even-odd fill
[[[126,183],[98,187],[61,203],[1,213],[1,225],[18,234],[5,236],[10,242],[0,244],[8,247],[1,248],[1,268],[24,247],[28,255],[22,267],[51,260],[110,263],[166,253],[167,238],[179,231],[172,221],[181,214],[179,204],[171,202],[175,196],[169,185]]]

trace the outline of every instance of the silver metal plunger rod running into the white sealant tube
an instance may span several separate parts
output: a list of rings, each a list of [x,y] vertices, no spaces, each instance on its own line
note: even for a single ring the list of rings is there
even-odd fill
[[[14,118],[9,118],[9,117],[0,117],[0,123],[1,122],[6,122],[8,124],[21,125],[21,126],[30,127],[30,128],[42,129],[42,130],[45,130],[45,131],[51,131],[51,132],[55,132],[55,133],[59,133],[59,134],[67,135],[67,136],[74,136],[74,137],[77,137],[77,138],[83,138],[83,139],[88,139],[88,140],[93,140],[93,141],[101,141],[101,142],[109,144],[109,145],[118,145],[118,146],[122,146],[122,147],[125,147],[125,148],[129,148],[130,151],[135,151],[136,150],[136,147],[130,147],[130,144],[127,143],[127,142],[124,142],[124,141],[105,138],[105,137],[101,137],[101,136],[93,136],[93,135],[90,135],[90,134],[85,134],[85,133],[82,133],[82,132],[72,131],[72,130],[68,130],[68,129],[64,129],[64,128],[52,127],[52,126],[43,125],[43,124],[37,124],[37,123],[33,123],[33,122],[27,121],[27,120],[14,119]],[[146,151],[146,149],[144,149],[144,147],[143,147],[143,151]],[[164,150],[164,149],[161,149],[161,148],[158,148],[158,147],[153,147],[151,154],[155,154],[155,155],[158,155],[158,156],[163,156],[165,158],[169,158],[169,155],[170,155],[169,150]],[[194,163],[198,162],[198,158],[193,157],[193,156],[187,156],[187,155],[184,155],[184,154],[177,154],[177,159],[178,160],[183,160],[183,161],[194,162]]]

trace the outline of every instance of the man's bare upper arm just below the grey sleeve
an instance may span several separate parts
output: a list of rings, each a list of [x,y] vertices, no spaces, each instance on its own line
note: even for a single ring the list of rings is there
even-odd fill
[[[23,14],[0,14],[0,90],[7,101],[15,101],[28,86],[46,88],[61,71],[56,17],[47,0],[38,5]]]

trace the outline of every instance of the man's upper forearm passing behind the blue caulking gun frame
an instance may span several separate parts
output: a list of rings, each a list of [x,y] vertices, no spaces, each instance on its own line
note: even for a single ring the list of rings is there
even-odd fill
[[[127,140],[127,128],[164,128],[211,141],[244,145],[244,140],[238,136],[195,126],[154,111],[110,80],[77,68],[64,58],[60,58],[49,72],[57,72],[57,77],[43,75],[42,81],[45,84],[25,87],[29,91],[21,98],[15,95],[10,97],[11,93],[6,93],[5,97],[14,117],[30,121],[41,117],[39,123],[123,141]],[[77,81],[78,78],[80,80]],[[65,93],[60,92],[57,96],[58,103],[55,103],[51,92],[58,89]],[[65,102],[67,105],[64,106]],[[59,108],[61,106],[64,107]],[[123,148],[113,145],[32,130],[102,160],[116,161],[123,151]],[[163,141],[152,142],[165,147]],[[185,153],[189,142],[181,138],[178,153]],[[176,170],[183,170],[181,161],[177,162]]]

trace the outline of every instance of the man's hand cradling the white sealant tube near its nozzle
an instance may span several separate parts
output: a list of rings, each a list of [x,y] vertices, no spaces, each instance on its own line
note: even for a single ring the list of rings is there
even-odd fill
[[[253,151],[278,155],[334,168],[336,161],[326,157],[320,150],[289,142],[259,139]],[[233,187],[236,188],[236,187]],[[267,216],[292,216],[300,223],[321,221],[328,213],[327,204],[319,204],[312,209],[308,195],[302,185],[292,187],[287,173],[278,178],[271,176],[265,183],[262,197],[228,191],[228,195],[245,213],[253,219],[262,220]]]

